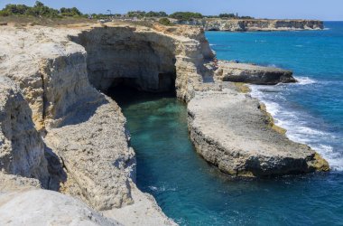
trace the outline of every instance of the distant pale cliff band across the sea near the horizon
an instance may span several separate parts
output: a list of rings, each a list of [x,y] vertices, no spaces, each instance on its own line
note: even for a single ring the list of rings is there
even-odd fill
[[[272,32],[272,31],[299,31],[321,30],[322,21],[317,20],[264,20],[264,19],[202,19],[188,22],[202,26],[206,31],[229,32]]]

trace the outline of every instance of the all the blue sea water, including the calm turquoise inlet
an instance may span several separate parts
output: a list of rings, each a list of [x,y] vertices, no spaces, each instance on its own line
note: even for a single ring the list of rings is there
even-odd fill
[[[187,108],[165,95],[114,95],[137,154],[137,184],[181,225],[343,225],[343,23],[324,31],[209,32],[221,60],[294,71],[296,84],[252,86],[287,136],[329,160],[330,173],[233,180],[192,146]]]

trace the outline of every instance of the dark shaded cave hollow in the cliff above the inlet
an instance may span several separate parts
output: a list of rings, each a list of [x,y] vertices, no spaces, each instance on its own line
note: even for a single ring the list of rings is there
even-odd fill
[[[154,36],[155,35],[155,36]],[[75,42],[87,51],[88,79],[110,96],[114,89],[175,93],[176,53],[172,39],[133,28],[95,28]]]

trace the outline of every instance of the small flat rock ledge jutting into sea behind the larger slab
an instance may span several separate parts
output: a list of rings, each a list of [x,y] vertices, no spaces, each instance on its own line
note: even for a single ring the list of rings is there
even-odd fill
[[[292,71],[228,61],[218,61],[218,70],[215,72],[215,76],[218,80],[258,85],[275,85],[280,82],[296,81],[292,77]]]

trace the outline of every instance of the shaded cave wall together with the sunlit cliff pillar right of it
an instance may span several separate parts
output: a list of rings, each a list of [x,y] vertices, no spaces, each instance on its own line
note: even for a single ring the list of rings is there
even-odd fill
[[[89,80],[104,92],[124,83],[152,92],[175,90],[179,99],[188,101],[200,89],[204,61],[214,57],[199,29],[162,33],[109,26],[83,31],[72,40],[85,47]]]

